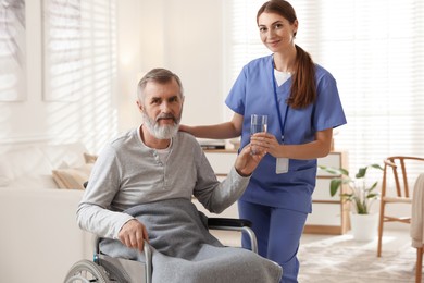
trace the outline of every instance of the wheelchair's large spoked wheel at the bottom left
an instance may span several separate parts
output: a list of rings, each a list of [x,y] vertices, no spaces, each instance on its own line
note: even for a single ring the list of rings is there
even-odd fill
[[[110,283],[104,269],[97,263],[83,259],[76,262],[67,272],[65,283]]]

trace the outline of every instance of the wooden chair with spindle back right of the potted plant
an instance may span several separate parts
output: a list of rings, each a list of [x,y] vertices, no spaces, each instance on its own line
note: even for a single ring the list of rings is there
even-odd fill
[[[384,172],[382,182],[382,198],[379,206],[379,221],[378,221],[378,246],[377,257],[382,256],[382,244],[383,244],[383,232],[384,222],[402,222],[411,223],[411,213],[408,216],[388,216],[386,214],[386,206],[390,204],[410,204],[412,205],[412,195],[410,194],[410,185],[413,185],[415,177],[408,175],[407,167],[422,168],[424,172],[424,158],[419,157],[403,157],[395,156],[388,157],[384,160]],[[391,177],[394,181],[396,194],[390,195],[388,189],[388,180]],[[411,183],[412,182],[412,183]],[[422,260],[423,260],[423,248],[416,249],[416,282],[421,282],[422,276]]]

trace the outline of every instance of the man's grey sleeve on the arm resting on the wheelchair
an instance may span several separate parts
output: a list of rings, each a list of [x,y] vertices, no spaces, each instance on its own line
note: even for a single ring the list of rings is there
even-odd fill
[[[87,188],[77,208],[80,229],[101,237],[117,238],[121,227],[132,216],[110,210],[120,189],[120,165],[114,149],[109,146],[97,159]]]

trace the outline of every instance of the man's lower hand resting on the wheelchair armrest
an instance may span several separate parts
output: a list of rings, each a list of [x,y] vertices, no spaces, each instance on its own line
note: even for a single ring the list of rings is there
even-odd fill
[[[140,253],[144,251],[145,239],[149,242],[149,235],[147,234],[146,226],[136,219],[126,222],[117,237],[125,246],[129,248],[136,248]]]

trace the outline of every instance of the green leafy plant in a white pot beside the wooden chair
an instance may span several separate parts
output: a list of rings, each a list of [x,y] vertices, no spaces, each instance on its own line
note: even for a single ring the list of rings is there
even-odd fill
[[[344,168],[322,167],[320,169],[336,175],[329,182],[331,196],[335,196],[338,189],[344,185],[348,185],[349,192],[342,192],[340,197],[344,201],[349,201],[352,205],[351,224],[353,237],[359,241],[370,241],[375,237],[378,224],[378,214],[371,213],[371,206],[379,198],[379,193],[376,192],[378,181],[366,182],[366,172],[370,168],[383,170],[379,164],[370,164],[360,168],[351,177],[349,171]],[[359,227],[359,229],[357,229]]]

